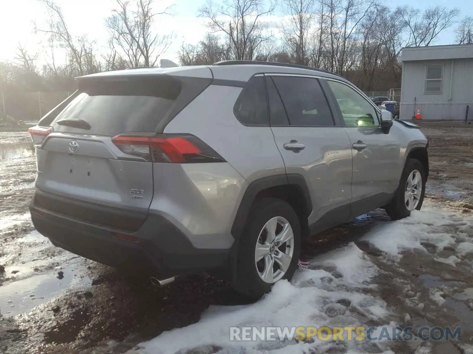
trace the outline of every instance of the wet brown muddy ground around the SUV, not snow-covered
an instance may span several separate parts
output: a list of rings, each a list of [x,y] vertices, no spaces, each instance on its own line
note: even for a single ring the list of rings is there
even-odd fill
[[[473,126],[420,125],[430,142],[426,202],[472,215]],[[133,352],[135,345],[163,331],[199,321],[210,305],[248,303],[225,282],[208,275],[178,278],[158,288],[133,269],[123,276],[54,247],[29,219],[27,205],[34,179],[34,149],[26,131],[0,132],[0,264],[5,267],[0,274],[0,353]],[[384,211],[370,213],[324,232],[321,240],[307,243],[304,254],[316,257],[355,241],[382,270],[373,280],[377,284],[373,292],[399,313],[399,323],[415,328],[462,326],[460,342],[423,346],[436,354],[473,353],[473,294],[457,296],[468,294],[472,287],[471,254],[452,266],[434,259],[448,259],[455,253],[455,244],[437,249],[427,243],[429,253],[410,251],[393,264],[383,252],[359,241],[371,227],[386,221]],[[472,230],[460,233],[453,226],[448,231],[461,234],[462,240],[473,236]],[[433,288],[442,289],[445,301],[432,299]],[[391,350],[421,353],[419,345],[400,343]],[[219,348],[205,350],[188,353],[216,353]],[[380,353],[379,348],[366,351]]]

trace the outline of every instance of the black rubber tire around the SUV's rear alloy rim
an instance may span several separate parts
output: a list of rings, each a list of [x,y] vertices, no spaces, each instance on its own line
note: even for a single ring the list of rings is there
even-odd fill
[[[264,256],[260,261],[258,261],[258,263],[256,263],[255,253],[257,243],[260,244],[260,252],[263,252],[263,247],[267,247],[267,230],[271,229],[275,224],[277,225],[275,232],[276,236],[282,235],[281,229],[283,229],[284,226],[286,226],[286,230],[289,230],[289,228],[287,228],[287,225],[289,225],[292,229],[293,237],[292,241],[289,239],[289,241],[281,243],[277,247],[268,247],[269,253],[267,256],[270,257],[275,264],[275,266],[273,265],[272,268],[269,268],[267,267],[268,263],[266,263],[267,260],[269,261],[269,258]],[[289,235],[289,233],[287,235]],[[278,237],[276,237],[276,241],[277,238]],[[287,247],[288,245],[290,247]],[[264,294],[268,293],[277,280],[287,279],[290,281],[297,268],[300,255],[300,245],[301,234],[299,219],[294,209],[292,209],[292,207],[287,202],[274,198],[264,198],[254,202],[246,222],[245,231],[242,234],[238,245],[236,280],[233,284],[233,287],[237,292],[257,300]],[[291,248],[292,258],[289,262],[288,259],[281,253],[287,255],[290,253]],[[285,262],[281,262],[282,258],[280,257],[286,258]],[[282,266],[280,266],[281,263],[286,265],[289,264],[289,267],[286,267],[287,270],[283,274],[281,273],[283,269],[281,268]],[[266,281],[264,281],[262,276],[264,274],[269,274],[268,272],[264,272],[265,269],[274,270],[274,278],[267,276],[265,277]],[[260,274],[263,275],[260,276]],[[268,280],[271,279],[276,280],[268,282]]]

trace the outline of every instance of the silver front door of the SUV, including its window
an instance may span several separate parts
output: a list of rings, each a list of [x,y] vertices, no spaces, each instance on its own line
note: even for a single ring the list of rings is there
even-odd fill
[[[380,113],[349,84],[327,80],[350,137],[353,155],[352,217],[382,207],[399,184],[400,144],[380,127]]]

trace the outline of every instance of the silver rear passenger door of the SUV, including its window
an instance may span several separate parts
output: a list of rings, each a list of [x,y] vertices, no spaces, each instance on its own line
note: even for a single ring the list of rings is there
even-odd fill
[[[265,74],[270,123],[286,173],[307,181],[318,232],[350,215],[351,146],[313,76]],[[338,124],[337,124],[338,123]]]

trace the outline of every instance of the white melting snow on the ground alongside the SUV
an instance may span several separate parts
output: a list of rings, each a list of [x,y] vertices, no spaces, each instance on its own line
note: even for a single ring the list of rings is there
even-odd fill
[[[385,252],[384,259],[399,260],[403,251],[416,249],[428,252],[425,245],[437,250],[458,244],[456,256],[438,258],[455,266],[465,254],[473,252],[471,239],[464,231],[473,227],[473,217],[452,208],[440,208],[426,201],[422,211],[412,212],[403,220],[378,222],[361,240]],[[452,234],[451,232],[455,232]],[[219,353],[320,353],[343,346],[345,353],[366,353],[366,341],[310,342],[293,341],[230,341],[230,326],[378,326],[396,325],[386,303],[370,291],[377,287],[373,278],[380,270],[355,243],[313,259],[310,269],[298,270],[291,283],[278,282],[272,292],[260,301],[243,306],[211,306],[201,320],[188,327],[173,329],[139,345],[142,354],[186,353],[194,349],[221,347]],[[433,292],[431,299],[441,305],[445,299]],[[373,343],[371,343],[373,345]],[[389,351],[389,343],[376,342],[377,353]],[[335,348],[334,348],[335,349]],[[208,349],[207,349],[208,350]],[[424,349],[420,349],[420,352]],[[214,351],[209,351],[209,353]],[[319,351],[317,351],[319,352]],[[337,351],[338,353],[338,351]]]

